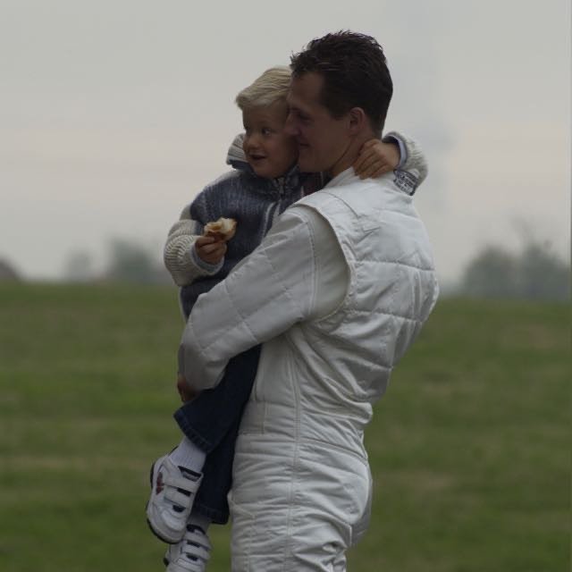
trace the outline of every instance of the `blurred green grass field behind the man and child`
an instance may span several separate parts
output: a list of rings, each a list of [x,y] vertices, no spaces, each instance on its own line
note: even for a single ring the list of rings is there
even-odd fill
[[[374,513],[349,570],[569,570],[569,318],[440,302],[366,434]],[[0,570],[164,569],[144,508],[179,441],[181,326],[169,288],[0,284]],[[228,572],[229,528],[211,533]]]

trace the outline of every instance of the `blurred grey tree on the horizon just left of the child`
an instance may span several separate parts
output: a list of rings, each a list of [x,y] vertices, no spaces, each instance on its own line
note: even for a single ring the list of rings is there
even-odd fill
[[[168,276],[149,248],[131,240],[113,239],[110,241],[105,279],[157,283],[167,282]]]

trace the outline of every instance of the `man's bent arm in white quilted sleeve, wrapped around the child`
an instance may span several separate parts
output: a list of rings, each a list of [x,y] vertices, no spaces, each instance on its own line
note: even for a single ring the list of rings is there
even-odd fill
[[[315,243],[324,249],[332,240],[334,254],[337,243],[327,223],[316,237],[307,210],[293,207],[282,214],[261,245],[199,297],[179,351],[180,372],[193,389],[214,387],[231,357],[324,311],[316,300]],[[341,250],[339,256],[343,261]]]

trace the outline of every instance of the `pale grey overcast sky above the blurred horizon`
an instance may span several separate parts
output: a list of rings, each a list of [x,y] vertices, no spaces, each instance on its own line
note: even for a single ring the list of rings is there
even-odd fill
[[[157,258],[226,170],[233,99],[328,31],[366,32],[394,81],[387,129],[425,149],[416,195],[444,280],[523,232],[569,252],[568,0],[0,0],[0,258],[55,279],[112,237]]]

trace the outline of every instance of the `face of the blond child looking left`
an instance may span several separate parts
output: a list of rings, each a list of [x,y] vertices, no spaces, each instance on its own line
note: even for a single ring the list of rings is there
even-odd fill
[[[288,105],[282,101],[242,112],[246,131],[242,148],[259,177],[280,177],[298,160],[296,139],[284,133],[287,116]]]

